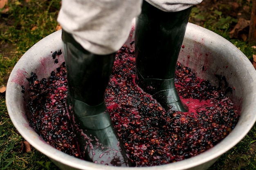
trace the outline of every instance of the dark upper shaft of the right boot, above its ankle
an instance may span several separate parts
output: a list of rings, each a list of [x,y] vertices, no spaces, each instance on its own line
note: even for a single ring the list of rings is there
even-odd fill
[[[137,70],[145,79],[174,77],[190,12],[164,12],[143,2],[135,24],[135,52]]]

